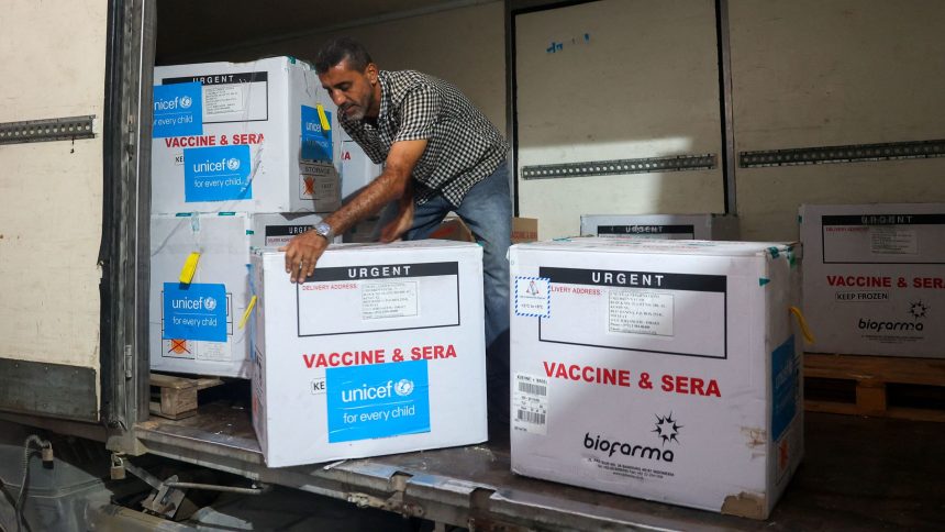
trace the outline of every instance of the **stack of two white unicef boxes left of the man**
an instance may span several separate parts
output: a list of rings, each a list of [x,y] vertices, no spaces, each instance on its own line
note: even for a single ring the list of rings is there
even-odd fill
[[[159,66],[154,80],[152,368],[248,378],[249,251],[340,206],[335,109],[289,57]]]

